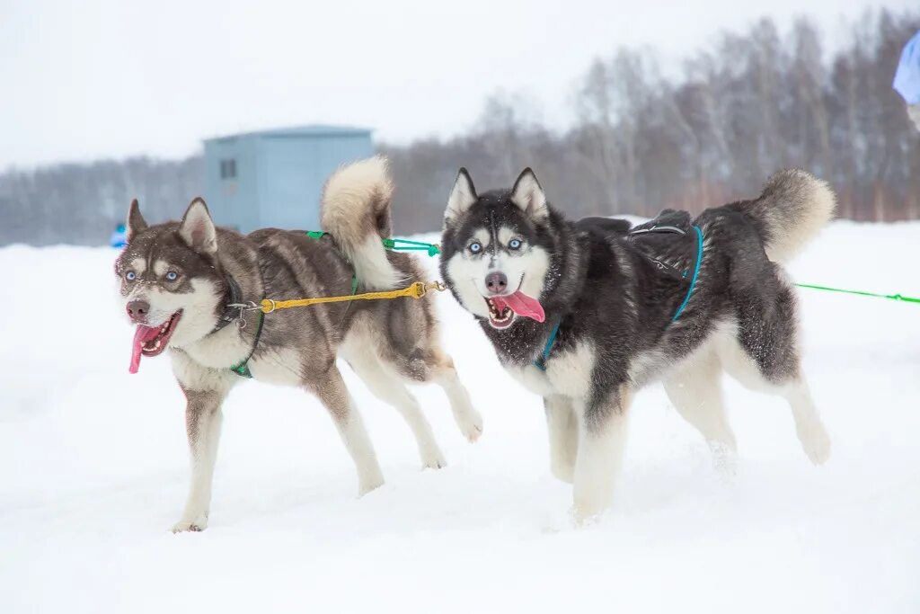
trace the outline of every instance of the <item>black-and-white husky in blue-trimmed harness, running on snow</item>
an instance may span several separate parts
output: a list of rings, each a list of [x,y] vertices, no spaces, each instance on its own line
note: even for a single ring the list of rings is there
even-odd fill
[[[692,224],[669,212],[677,234],[657,234],[671,226],[658,222],[630,232],[623,221],[566,220],[530,168],[511,190],[481,195],[460,169],[444,214],[443,279],[505,369],[544,398],[550,467],[573,483],[576,519],[610,504],[630,400],[652,380],[728,458],[736,445],[723,370],[786,399],[805,454],[828,458],[801,372],[795,291],[779,263],[834,206],[826,183],[786,170],[758,198]]]

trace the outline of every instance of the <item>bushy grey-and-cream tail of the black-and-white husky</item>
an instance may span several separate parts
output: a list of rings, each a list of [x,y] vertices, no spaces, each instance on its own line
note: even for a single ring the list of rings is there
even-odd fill
[[[781,170],[764,191],[740,204],[750,217],[771,261],[786,262],[834,217],[837,202],[826,181],[800,168]]]

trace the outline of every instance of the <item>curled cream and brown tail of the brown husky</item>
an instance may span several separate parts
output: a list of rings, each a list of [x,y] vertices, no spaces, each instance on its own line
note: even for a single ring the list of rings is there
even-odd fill
[[[362,284],[379,290],[397,287],[405,275],[386,257],[382,239],[390,236],[390,180],[384,156],[339,168],[326,182],[320,224],[354,266]]]

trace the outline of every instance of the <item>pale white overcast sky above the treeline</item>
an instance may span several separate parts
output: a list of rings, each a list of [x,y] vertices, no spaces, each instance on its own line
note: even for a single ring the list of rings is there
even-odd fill
[[[575,79],[619,45],[678,63],[719,29],[799,14],[833,44],[842,17],[915,2],[0,0],[0,169],[186,156],[206,136],[314,122],[406,142],[466,130],[499,88],[564,125]]]

